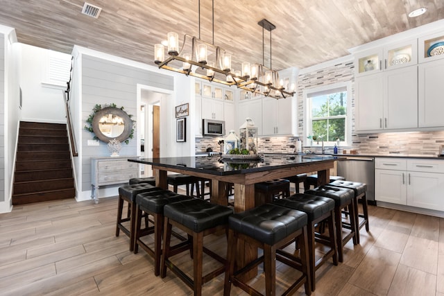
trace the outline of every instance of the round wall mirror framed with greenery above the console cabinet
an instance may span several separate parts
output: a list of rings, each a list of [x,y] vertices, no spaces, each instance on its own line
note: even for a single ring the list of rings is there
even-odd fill
[[[116,107],[105,107],[94,115],[92,130],[99,140],[108,143],[112,139],[120,142],[130,137],[133,121],[125,111]]]

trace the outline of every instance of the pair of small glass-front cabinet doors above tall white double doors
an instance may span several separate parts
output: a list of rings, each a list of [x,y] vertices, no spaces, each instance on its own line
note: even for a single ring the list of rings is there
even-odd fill
[[[356,75],[362,76],[417,64],[417,52],[416,39],[363,51],[355,55]]]

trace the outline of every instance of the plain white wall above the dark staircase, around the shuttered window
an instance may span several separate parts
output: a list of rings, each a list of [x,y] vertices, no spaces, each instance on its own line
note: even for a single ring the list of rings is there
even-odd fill
[[[20,87],[22,87],[22,121],[66,123],[62,89],[49,87],[45,82],[49,51],[28,44],[20,44],[22,64]]]

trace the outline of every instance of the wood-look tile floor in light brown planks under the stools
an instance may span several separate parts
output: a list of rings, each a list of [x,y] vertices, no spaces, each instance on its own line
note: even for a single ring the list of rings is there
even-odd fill
[[[444,219],[369,210],[370,232],[361,229],[360,245],[345,246],[343,263],[316,272],[313,295],[444,295]],[[129,252],[128,237],[114,236],[116,214],[117,198],[42,202],[0,214],[0,295],[192,295],[172,272],[155,277],[144,250]],[[208,236],[205,244],[226,252],[225,236]],[[191,272],[189,256],[177,260]],[[204,260],[205,268],[214,264]],[[280,294],[294,274],[280,264],[277,275]],[[252,282],[264,286],[260,274]],[[203,287],[203,295],[222,294],[223,275]],[[246,294],[232,288],[232,295]]]

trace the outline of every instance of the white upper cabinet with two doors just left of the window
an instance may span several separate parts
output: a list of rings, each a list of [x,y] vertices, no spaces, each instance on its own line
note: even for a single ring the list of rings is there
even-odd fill
[[[293,97],[262,98],[262,135],[294,135],[296,131],[296,104]],[[294,126],[293,126],[294,125]]]

